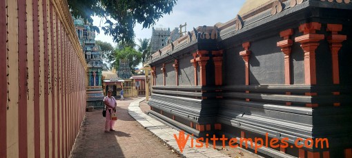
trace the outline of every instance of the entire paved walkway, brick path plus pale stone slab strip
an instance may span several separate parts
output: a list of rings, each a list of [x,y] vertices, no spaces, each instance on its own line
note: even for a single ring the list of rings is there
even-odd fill
[[[190,138],[181,153],[173,137],[179,137],[179,131],[146,115],[149,108],[143,101],[144,98],[117,100],[118,120],[116,131],[111,133],[104,133],[101,109],[87,112],[70,157],[258,157],[228,146],[226,150],[215,150],[211,144],[209,148],[191,148]]]

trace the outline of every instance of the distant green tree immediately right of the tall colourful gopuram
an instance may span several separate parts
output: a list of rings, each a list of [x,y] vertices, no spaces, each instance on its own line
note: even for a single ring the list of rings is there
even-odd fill
[[[104,65],[111,69],[115,61],[115,49],[113,45],[99,40],[95,41],[95,44],[100,47],[101,59],[103,60]]]

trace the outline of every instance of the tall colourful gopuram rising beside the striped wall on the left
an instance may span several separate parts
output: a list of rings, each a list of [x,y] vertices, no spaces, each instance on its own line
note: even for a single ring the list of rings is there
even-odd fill
[[[83,19],[75,19],[76,32],[79,43],[84,51],[86,63],[88,65],[87,72],[87,106],[102,108],[104,106],[104,93],[101,84],[101,71],[103,62],[101,60],[101,52],[98,45],[95,44],[95,30],[92,25],[84,23]]]

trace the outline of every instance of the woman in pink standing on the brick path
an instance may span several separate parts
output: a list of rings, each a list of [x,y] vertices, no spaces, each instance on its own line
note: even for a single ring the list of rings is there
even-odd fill
[[[115,120],[111,120],[111,113],[116,111],[116,100],[111,94],[113,91],[111,89],[108,90],[108,95],[104,97],[104,104],[106,105],[106,117],[105,117],[105,132],[108,133],[110,131],[115,131],[113,126],[115,124]]]

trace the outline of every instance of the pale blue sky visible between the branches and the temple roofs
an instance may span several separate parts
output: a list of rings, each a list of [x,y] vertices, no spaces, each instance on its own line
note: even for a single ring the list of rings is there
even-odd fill
[[[173,12],[164,15],[162,19],[156,22],[154,27],[170,27],[173,30],[180,24],[187,23],[187,31],[193,30],[193,27],[202,25],[213,26],[215,23],[226,23],[234,19],[237,12],[244,4],[244,0],[179,0],[173,8]],[[94,25],[99,26],[99,17],[93,17]],[[151,27],[142,29],[137,24],[135,27],[135,41],[137,38],[150,38],[152,36]],[[96,40],[106,41],[113,46],[113,38],[104,35],[104,32],[97,34]]]

